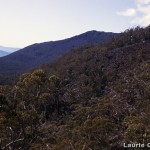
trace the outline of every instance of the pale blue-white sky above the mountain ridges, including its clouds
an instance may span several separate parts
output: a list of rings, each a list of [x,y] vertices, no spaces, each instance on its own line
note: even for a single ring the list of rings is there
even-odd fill
[[[56,41],[150,24],[150,0],[0,0],[0,45]]]

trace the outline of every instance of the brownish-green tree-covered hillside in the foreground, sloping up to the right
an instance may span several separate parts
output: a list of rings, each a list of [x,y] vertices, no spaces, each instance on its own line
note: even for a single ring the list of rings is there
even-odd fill
[[[0,87],[1,149],[109,150],[150,141],[150,26],[86,46]]]

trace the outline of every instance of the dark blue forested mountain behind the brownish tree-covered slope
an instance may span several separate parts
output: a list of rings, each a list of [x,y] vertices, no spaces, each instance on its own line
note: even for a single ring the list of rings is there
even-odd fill
[[[0,58],[0,74],[22,73],[47,64],[71,49],[83,45],[96,45],[115,36],[116,33],[89,31],[68,39],[33,44]]]

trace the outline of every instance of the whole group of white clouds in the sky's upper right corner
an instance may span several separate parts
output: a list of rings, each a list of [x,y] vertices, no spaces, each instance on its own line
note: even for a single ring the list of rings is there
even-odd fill
[[[132,17],[131,23],[134,25],[150,25],[150,0],[135,0],[135,8],[117,12],[117,15]]]

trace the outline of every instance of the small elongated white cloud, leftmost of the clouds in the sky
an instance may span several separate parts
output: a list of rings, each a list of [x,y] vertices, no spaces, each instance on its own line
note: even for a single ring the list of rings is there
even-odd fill
[[[130,8],[130,9],[127,9],[125,11],[121,11],[121,12],[117,12],[117,15],[119,16],[135,16],[136,15],[136,10],[134,8]]]

